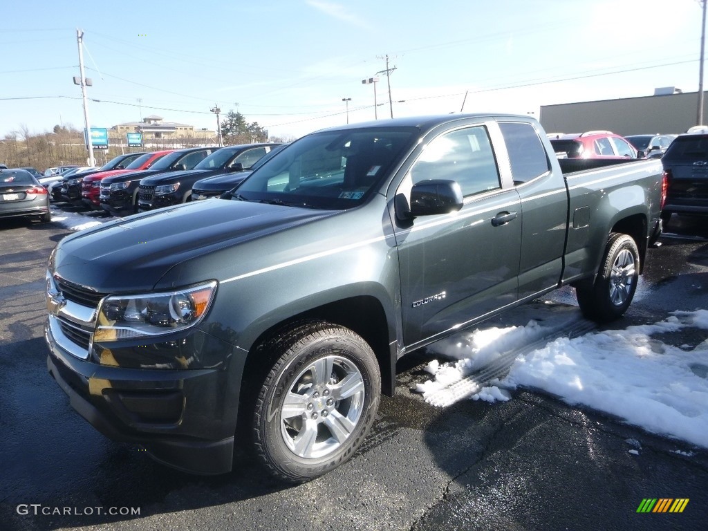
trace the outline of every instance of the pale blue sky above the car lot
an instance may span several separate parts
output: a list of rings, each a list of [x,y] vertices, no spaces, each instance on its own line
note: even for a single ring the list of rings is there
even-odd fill
[[[3,10],[0,137],[84,127],[77,29],[91,127],[214,130],[217,106],[295,139],[392,115],[538,118],[700,77],[699,0],[35,0]]]

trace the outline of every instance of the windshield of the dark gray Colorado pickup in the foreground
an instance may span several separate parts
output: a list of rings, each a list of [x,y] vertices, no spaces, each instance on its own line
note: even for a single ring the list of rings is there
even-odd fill
[[[233,200],[326,210],[360,205],[417,139],[414,127],[308,135],[275,154],[231,194]]]

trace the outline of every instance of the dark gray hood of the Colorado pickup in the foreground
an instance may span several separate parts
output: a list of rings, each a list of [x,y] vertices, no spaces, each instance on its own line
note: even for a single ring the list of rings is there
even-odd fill
[[[337,212],[230,200],[197,201],[117,219],[62,240],[55,273],[101,293],[152,290],[171,268]],[[212,278],[207,271],[203,279]]]

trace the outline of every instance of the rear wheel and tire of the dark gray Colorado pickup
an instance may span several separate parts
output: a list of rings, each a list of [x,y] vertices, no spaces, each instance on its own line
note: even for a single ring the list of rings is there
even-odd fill
[[[595,282],[576,287],[578,304],[587,319],[606,323],[627,312],[639,280],[639,249],[631,236],[610,234]]]

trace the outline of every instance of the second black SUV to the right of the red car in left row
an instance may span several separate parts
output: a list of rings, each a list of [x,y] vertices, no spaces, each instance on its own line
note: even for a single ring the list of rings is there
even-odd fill
[[[250,169],[280,144],[241,144],[222,147],[191,171],[171,171],[140,181],[139,210],[153,210],[192,200],[192,187],[200,179]],[[245,176],[244,176],[245,178]],[[233,188],[233,187],[232,187]]]

